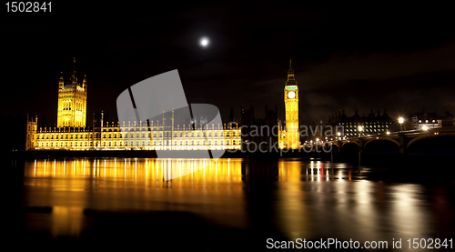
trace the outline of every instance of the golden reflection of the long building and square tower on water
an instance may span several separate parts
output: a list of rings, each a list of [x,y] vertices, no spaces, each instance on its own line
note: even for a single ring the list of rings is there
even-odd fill
[[[54,237],[78,237],[84,209],[189,211],[244,227],[241,183],[241,159],[34,160],[25,163],[25,206],[52,207],[47,221]]]

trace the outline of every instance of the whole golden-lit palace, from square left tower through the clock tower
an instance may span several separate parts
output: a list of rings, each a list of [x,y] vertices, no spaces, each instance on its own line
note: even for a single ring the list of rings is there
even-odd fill
[[[74,65],[70,80],[66,82],[60,76],[58,82],[56,126],[38,127],[37,116],[27,116],[26,150],[240,150],[242,144],[249,145],[253,142],[258,146],[259,141],[270,141],[266,139],[268,137],[252,138],[248,135],[250,130],[242,130],[242,127],[256,125],[252,120],[249,123],[248,120],[242,120],[242,126],[237,123],[229,123],[228,126],[207,124],[207,119],[204,118],[191,118],[189,124],[180,124],[175,123],[174,111],[167,119],[163,116],[163,119],[155,121],[110,123],[105,121],[103,111],[99,116],[94,112],[93,125],[86,126],[86,76],[82,82],[78,82],[76,59]],[[278,142],[280,149],[298,149],[298,83],[291,61],[284,86],[284,103],[285,124],[281,124],[278,117],[275,117],[275,124],[268,120],[268,126],[278,126],[278,136],[271,140],[274,143],[268,144]],[[271,111],[266,111],[266,114],[269,112]],[[277,109],[272,114],[277,116]],[[244,116],[242,107],[242,117]],[[260,125],[263,124],[259,123]]]

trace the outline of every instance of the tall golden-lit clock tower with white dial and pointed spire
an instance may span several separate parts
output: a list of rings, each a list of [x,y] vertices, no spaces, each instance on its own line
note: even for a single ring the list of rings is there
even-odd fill
[[[300,146],[298,134],[298,86],[289,60],[288,80],[284,88],[286,130],[282,132],[282,147],[297,149]]]

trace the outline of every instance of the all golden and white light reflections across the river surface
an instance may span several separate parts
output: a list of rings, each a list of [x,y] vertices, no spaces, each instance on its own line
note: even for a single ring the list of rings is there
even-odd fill
[[[54,237],[78,237],[93,221],[87,210],[187,212],[217,227],[273,230],[289,239],[453,233],[452,187],[370,179],[375,172],[298,159],[33,160],[25,163],[24,205],[51,207],[28,215],[27,225],[46,223]],[[167,180],[173,175],[179,177]]]

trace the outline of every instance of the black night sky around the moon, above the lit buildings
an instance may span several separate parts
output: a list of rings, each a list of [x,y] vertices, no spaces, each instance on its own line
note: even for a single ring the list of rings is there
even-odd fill
[[[158,2],[158,1],[157,1]],[[164,1],[161,1],[164,2]],[[45,116],[56,123],[60,72],[76,57],[88,84],[87,125],[94,110],[116,116],[128,86],[178,69],[189,103],[278,105],[289,58],[299,87],[300,124],[345,109],[360,116],[455,114],[455,21],[444,5],[168,5],[52,3],[52,13],[2,11],[1,114]],[[210,44],[198,44],[201,36]]]

